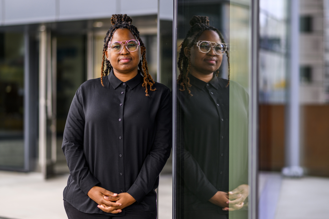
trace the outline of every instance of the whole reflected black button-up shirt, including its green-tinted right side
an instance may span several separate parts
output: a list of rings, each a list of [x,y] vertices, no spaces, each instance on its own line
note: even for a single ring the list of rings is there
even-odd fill
[[[177,94],[178,195],[185,210],[227,214],[208,200],[248,183],[248,94],[234,81],[189,78],[193,96]]]

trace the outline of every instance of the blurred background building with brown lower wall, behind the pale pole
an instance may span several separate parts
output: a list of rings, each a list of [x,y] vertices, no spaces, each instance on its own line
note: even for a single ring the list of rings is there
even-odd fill
[[[299,1],[300,162],[307,175],[329,176],[328,1]],[[289,1],[260,0],[259,167],[285,166],[289,102]]]

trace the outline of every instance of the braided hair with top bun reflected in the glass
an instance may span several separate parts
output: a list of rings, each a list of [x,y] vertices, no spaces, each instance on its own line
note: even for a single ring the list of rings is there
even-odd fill
[[[193,16],[192,19],[190,20],[190,25],[191,25],[190,30],[187,32],[184,41],[179,46],[181,47],[181,49],[179,52],[179,58],[177,64],[180,74],[178,76],[177,83],[180,86],[179,88],[180,91],[184,91],[185,89],[187,89],[190,96],[193,96],[189,89],[192,85],[190,84],[190,78],[188,77],[188,74],[190,72],[190,67],[191,67],[191,60],[190,60],[191,47],[193,46],[195,40],[202,34],[203,31],[211,30],[211,31],[215,31],[218,34],[221,43],[225,43],[225,41],[222,34],[218,31],[217,28],[209,26],[209,20],[208,17],[206,16]],[[187,52],[188,57],[186,57],[184,54],[185,47],[188,48],[188,52]],[[228,62],[228,83],[226,85],[227,87],[230,84],[230,58],[228,55],[228,51],[225,52]],[[218,76],[218,73],[219,70],[217,69],[215,71],[216,76]]]

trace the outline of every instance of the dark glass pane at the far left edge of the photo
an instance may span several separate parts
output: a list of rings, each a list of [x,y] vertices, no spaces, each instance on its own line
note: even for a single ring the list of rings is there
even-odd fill
[[[0,167],[24,168],[24,35],[0,34]]]

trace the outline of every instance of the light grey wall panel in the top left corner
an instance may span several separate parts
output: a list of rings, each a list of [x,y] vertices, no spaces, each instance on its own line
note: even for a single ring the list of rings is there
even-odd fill
[[[55,0],[2,0],[5,25],[47,22],[55,20]]]

